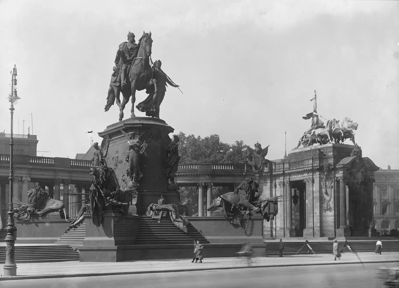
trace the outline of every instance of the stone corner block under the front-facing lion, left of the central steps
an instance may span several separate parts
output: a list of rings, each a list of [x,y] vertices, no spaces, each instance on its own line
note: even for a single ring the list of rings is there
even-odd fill
[[[86,216],[86,237],[83,246],[132,245],[136,237],[141,216],[126,216],[105,213],[100,227],[93,224],[90,214]],[[98,257],[101,257],[101,253]]]

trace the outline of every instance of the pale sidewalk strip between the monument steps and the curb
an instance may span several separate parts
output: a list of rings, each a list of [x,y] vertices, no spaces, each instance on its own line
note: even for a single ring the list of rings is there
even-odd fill
[[[399,252],[387,252],[375,255],[373,252],[358,253],[362,263],[383,263],[399,261]],[[246,259],[207,258],[203,263],[191,263],[192,259],[163,259],[122,262],[51,262],[51,263],[19,263],[17,264],[16,277],[0,276],[0,284],[11,279],[37,279],[37,278],[71,278],[84,276],[105,276],[120,274],[146,274],[158,272],[200,271],[215,269],[245,268],[248,266]],[[353,253],[342,253],[340,260],[334,261],[330,254],[318,255],[285,255],[284,257],[255,257],[252,268],[273,266],[304,266],[316,265],[336,266],[338,264],[354,264],[361,262]],[[343,265],[346,266],[346,265]],[[2,281],[3,280],[3,281]]]

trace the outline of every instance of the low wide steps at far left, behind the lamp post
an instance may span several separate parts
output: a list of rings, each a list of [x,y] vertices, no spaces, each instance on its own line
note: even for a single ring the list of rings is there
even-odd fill
[[[0,263],[6,261],[6,247],[0,247]],[[15,246],[16,263],[79,261],[79,253],[67,245]]]

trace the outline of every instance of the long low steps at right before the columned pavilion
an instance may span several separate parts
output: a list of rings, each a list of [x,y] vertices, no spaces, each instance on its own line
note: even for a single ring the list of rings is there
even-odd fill
[[[364,237],[363,237],[364,238]],[[347,239],[348,240],[348,239]],[[284,242],[284,239],[283,239]],[[351,241],[348,240],[349,246],[353,248],[355,252],[370,252],[373,253],[375,250],[375,242],[374,240],[371,241]],[[267,255],[279,255],[279,244],[277,241],[274,242],[266,242],[267,243]],[[340,248],[342,249],[342,246],[344,245],[344,241],[340,241],[338,239],[338,243]],[[294,255],[298,250],[305,244],[305,241],[301,242],[284,242],[284,251],[283,254],[285,255]],[[332,241],[309,241],[310,247],[312,247],[314,253],[316,254],[325,254],[325,253],[330,253],[332,254]],[[305,245],[299,252],[298,254],[307,254],[309,248]],[[349,249],[346,250],[346,248],[342,249],[343,252],[349,252]],[[389,251],[399,251],[399,240],[385,240],[382,239],[382,253],[384,252],[389,252]],[[311,254],[312,251],[310,251]]]

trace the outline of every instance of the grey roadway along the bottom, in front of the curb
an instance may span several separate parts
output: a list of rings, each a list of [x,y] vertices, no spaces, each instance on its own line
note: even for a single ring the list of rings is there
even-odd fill
[[[336,262],[336,261],[334,261]],[[397,266],[399,263],[389,263]],[[190,266],[188,264],[188,266]],[[41,288],[377,288],[376,268],[385,264],[367,263],[318,266],[235,268],[226,270],[109,275],[1,281],[0,287]]]

